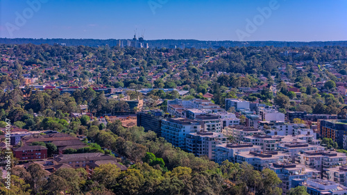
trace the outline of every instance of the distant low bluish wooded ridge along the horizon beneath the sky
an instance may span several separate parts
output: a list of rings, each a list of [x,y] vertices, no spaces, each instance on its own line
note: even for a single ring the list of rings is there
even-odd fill
[[[0,38],[1,44],[55,44],[65,43],[67,46],[116,46],[119,40],[93,40],[93,39],[28,39],[28,38]],[[152,48],[178,48],[182,44],[186,48],[195,47],[201,48],[214,48],[217,49],[221,46],[347,46],[347,41],[329,41],[329,42],[280,42],[280,41],[200,41],[200,40],[145,40]]]

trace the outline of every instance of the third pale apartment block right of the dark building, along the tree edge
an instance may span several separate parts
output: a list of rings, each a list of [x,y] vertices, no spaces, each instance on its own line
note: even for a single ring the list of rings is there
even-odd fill
[[[253,144],[218,144],[216,146],[215,162],[221,164],[224,160],[235,162],[235,155],[240,152],[261,151],[260,146]]]

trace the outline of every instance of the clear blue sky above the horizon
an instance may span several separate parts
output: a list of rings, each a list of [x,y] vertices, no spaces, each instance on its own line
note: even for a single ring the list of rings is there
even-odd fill
[[[135,29],[146,40],[347,40],[347,1],[0,0],[0,37],[130,39]]]

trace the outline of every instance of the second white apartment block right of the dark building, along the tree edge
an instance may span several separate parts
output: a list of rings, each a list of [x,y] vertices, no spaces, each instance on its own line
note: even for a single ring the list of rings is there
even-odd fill
[[[228,139],[222,133],[196,132],[187,134],[186,148],[189,153],[201,157],[208,156],[210,160],[215,160],[217,144],[227,143]]]

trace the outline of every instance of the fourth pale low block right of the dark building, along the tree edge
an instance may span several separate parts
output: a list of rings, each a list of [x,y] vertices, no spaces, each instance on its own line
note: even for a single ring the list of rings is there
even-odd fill
[[[274,162],[287,162],[289,155],[278,151],[247,151],[240,152],[235,155],[236,162],[248,162],[255,170],[269,168]]]

